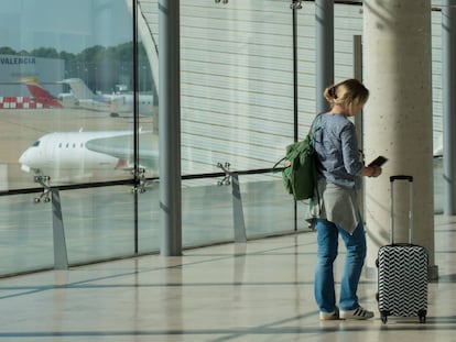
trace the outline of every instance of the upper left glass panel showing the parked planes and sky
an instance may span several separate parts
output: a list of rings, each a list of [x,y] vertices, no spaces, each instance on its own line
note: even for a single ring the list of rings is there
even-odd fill
[[[115,93],[132,89],[127,2],[4,0],[0,15],[3,187],[131,177],[132,124],[112,118],[132,118],[132,95]]]

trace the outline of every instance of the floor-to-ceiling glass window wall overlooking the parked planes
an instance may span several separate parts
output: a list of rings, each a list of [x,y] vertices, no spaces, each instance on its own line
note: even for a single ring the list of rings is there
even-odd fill
[[[247,238],[307,229],[306,203],[297,203],[295,216],[281,175],[267,170],[293,142],[295,93],[300,139],[315,117],[318,96],[315,2],[303,1],[296,11],[295,41],[291,2],[181,0],[184,246],[232,241],[240,222]],[[159,7],[158,0],[139,1],[135,49],[132,3],[2,1],[0,241],[6,262],[0,275],[53,266],[55,203],[45,191],[36,194],[46,186],[69,185],[61,191],[61,205],[70,265],[160,250]],[[441,13],[434,11],[432,21],[438,144]],[[336,80],[354,75],[354,35],[361,33],[362,7],[336,3]],[[438,170],[442,159],[436,163]],[[138,189],[126,185],[134,166]],[[239,198],[232,184],[220,186],[227,185],[221,166],[240,172]],[[95,184],[107,180],[121,181]]]

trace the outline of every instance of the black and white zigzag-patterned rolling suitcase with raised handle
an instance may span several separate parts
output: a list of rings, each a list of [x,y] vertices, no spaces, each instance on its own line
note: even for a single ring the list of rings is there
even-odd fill
[[[395,180],[409,181],[409,243],[394,243]],[[412,243],[413,233],[413,177],[391,176],[391,244],[381,246],[377,260],[380,317],[387,323],[388,316],[420,318],[427,313],[427,252]]]

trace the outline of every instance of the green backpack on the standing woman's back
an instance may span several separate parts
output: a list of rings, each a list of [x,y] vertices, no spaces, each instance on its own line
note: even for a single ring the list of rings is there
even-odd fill
[[[311,125],[313,128],[314,124]],[[311,199],[317,184],[316,156],[313,146],[312,129],[307,136],[300,142],[286,146],[285,156],[275,163],[275,168],[284,161],[282,180],[285,190],[293,195],[295,200]]]

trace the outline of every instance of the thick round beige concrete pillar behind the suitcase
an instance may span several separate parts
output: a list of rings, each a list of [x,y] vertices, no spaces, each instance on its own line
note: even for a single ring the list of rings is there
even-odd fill
[[[384,155],[383,175],[366,180],[368,271],[378,250],[390,242],[392,175],[414,178],[414,243],[424,245],[434,265],[434,196],[431,79],[431,2],[365,0],[365,84],[370,98],[363,111],[367,162]],[[395,242],[408,242],[408,181],[394,190]]]

